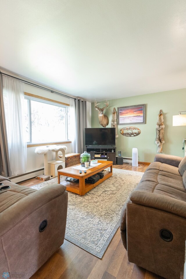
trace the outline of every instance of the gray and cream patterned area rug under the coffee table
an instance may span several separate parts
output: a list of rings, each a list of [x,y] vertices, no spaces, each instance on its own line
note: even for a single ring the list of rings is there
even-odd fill
[[[85,196],[68,192],[65,239],[101,259],[119,227],[121,209],[142,175],[113,168],[113,175]],[[57,177],[32,188],[55,183]]]

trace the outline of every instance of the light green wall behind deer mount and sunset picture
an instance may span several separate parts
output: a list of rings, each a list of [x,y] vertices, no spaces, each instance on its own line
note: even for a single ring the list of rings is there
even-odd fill
[[[103,107],[103,102],[99,102]],[[156,122],[160,110],[164,116],[164,140],[162,154],[184,156],[182,150],[182,140],[186,138],[186,126],[172,126],[172,116],[179,111],[186,110],[186,89],[177,89],[153,94],[146,94],[134,97],[109,100],[109,107],[105,109],[104,114],[108,116],[111,127],[112,110],[115,107],[125,107],[130,105],[145,104],[145,123],[134,125],[118,125],[116,139],[117,150],[122,151],[123,157],[132,157],[132,148],[138,148],[138,160],[142,162],[152,162],[157,153]],[[101,128],[98,120],[98,112],[95,110],[94,103],[91,104],[92,128]],[[141,130],[141,134],[136,137],[124,137],[120,134],[120,129],[127,126],[135,126]]]

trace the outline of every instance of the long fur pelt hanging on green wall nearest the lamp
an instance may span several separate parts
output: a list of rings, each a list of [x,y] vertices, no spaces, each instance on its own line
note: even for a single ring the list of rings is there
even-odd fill
[[[164,143],[164,123],[163,123],[163,114],[162,110],[160,110],[158,114],[158,119],[156,123],[156,141],[155,143],[158,145],[158,153],[162,152],[162,144]]]

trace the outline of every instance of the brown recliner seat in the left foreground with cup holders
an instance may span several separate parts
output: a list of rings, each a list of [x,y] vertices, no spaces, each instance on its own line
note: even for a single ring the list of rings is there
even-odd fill
[[[63,244],[68,193],[60,184],[35,190],[2,176],[0,183],[0,272],[30,278]]]

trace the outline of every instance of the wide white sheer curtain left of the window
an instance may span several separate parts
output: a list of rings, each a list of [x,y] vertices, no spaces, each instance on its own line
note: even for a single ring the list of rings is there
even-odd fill
[[[26,172],[23,85],[23,82],[3,75],[3,99],[12,176]]]

